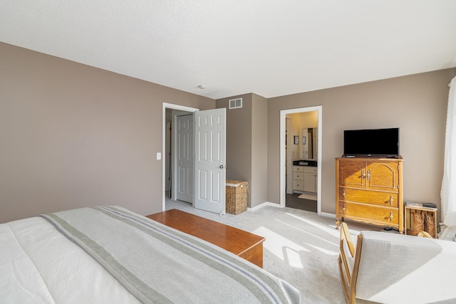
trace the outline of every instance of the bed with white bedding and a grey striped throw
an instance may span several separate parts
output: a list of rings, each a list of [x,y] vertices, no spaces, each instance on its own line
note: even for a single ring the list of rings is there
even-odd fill
[[[4,303],[299,303],[233,253],[119,206],[0,224]]]

